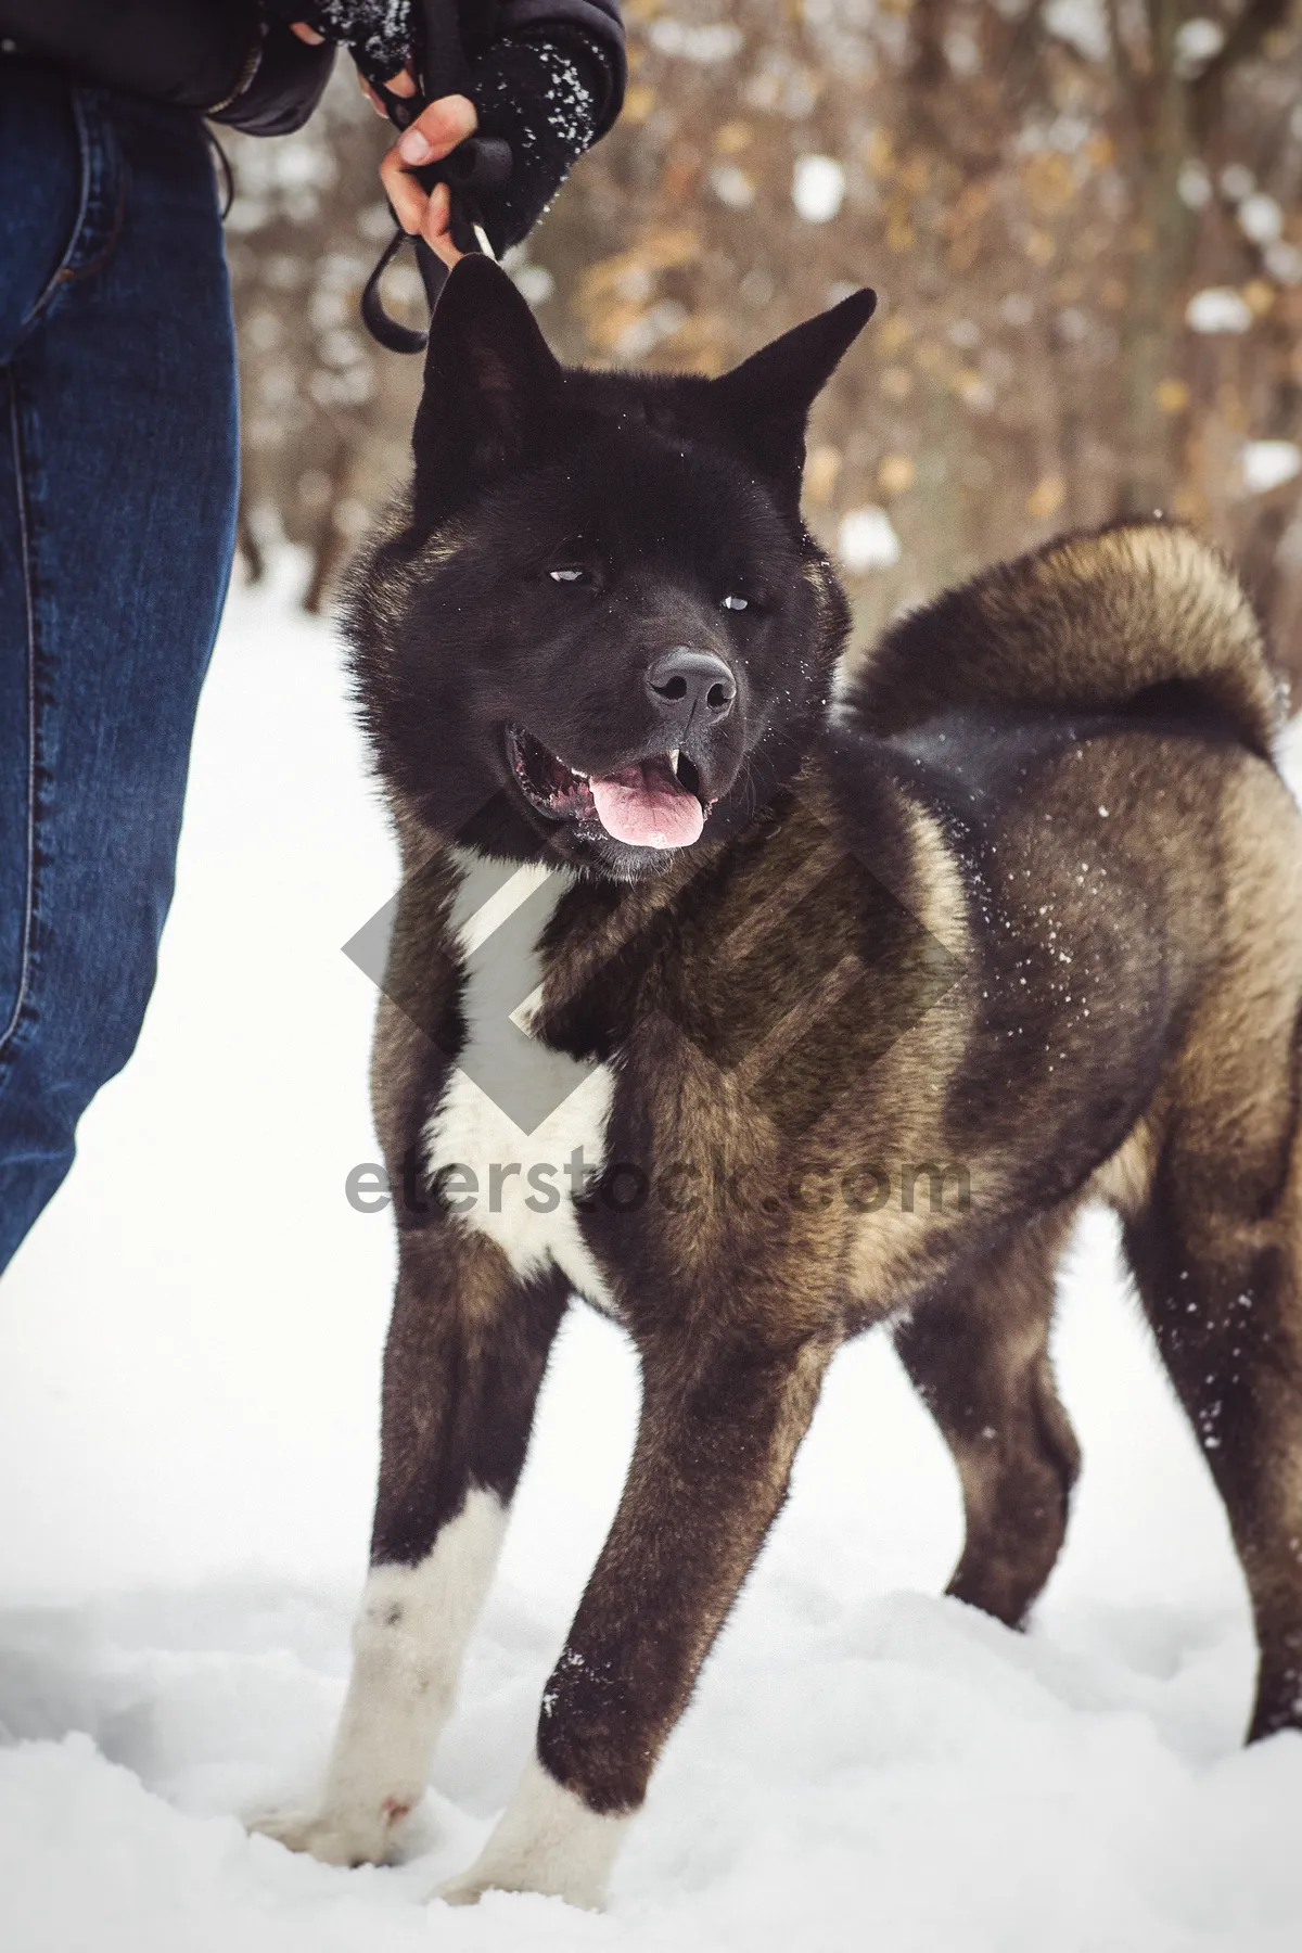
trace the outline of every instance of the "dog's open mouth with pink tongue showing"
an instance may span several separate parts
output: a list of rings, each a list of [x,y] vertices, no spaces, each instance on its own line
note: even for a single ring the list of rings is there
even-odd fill
[[[533,732],[508,727],[508,756],[519,791],[549,820],[572,820],[629,848],[689,848],[709,809],[685,752],[660,752],[605,777],[580,773]]]

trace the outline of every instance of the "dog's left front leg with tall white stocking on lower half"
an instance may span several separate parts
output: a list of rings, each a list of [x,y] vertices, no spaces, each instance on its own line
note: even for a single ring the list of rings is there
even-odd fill
[[[353,1672],[318,1807],[256,1828],[375,1863],[426,1793],[519,1478],[564,1283],[519,1281],[455,1221],[400,1236],[381,1482]]]

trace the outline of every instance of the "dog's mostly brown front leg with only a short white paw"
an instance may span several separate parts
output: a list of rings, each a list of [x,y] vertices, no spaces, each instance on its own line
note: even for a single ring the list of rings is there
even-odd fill
[[[787,1494],[832,1346],[644,1351],[615,1525],[543,1695],[537,1750],[478,1861],[488,1889],[599,1906],[666,1736]],[[677,1359],[675,1359],[677,1357]]]

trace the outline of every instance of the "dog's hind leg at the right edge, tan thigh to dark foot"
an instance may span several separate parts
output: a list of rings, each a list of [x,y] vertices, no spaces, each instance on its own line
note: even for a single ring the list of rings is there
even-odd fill
[[[1226,1504],[1257,1627],[1251,1736],[1302,1728],[1302,824],[1222,793],[1210,980],[1119,1199],[1163,1363]]]

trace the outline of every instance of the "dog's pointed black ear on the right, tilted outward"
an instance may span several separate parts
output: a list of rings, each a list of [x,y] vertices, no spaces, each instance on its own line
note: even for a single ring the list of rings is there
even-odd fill
[[[711,383],[734,437],[769,480],[794,490],[796,502],[810,408],[875,311],[876,293],[855,291]]]

